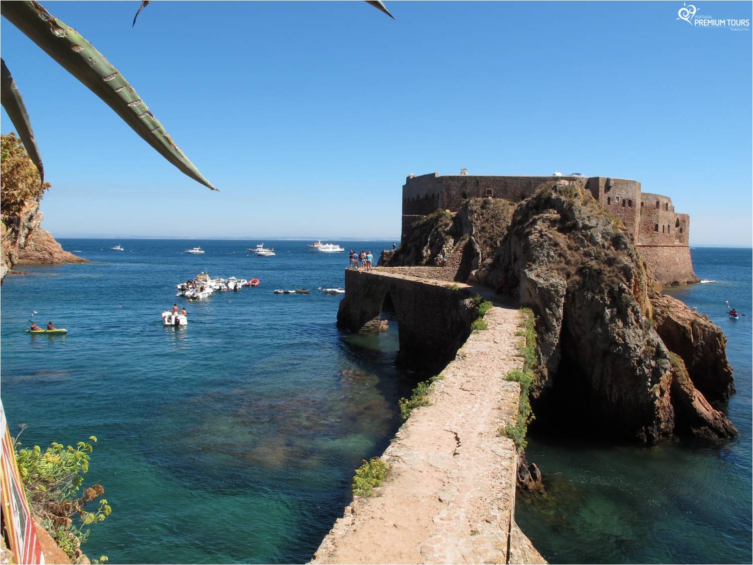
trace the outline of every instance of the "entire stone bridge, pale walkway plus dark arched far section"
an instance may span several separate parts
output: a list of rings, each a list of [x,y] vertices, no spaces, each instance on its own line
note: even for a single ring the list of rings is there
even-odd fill
[[[520,385],[505,375],[523,364],[520,312],[489,289],[410,273],[431,274],[346,270],[337,322],[379,328],[389,297],[404,362],[444,368],[430,404],[413,409],[382,455],[389,471],[376,495],[355,497],[312,563],[546,563],[515,524],[517,451],[499,431],[517,415]],[[477,293],[494,306],[488,328],[471,334],[465,298]]]

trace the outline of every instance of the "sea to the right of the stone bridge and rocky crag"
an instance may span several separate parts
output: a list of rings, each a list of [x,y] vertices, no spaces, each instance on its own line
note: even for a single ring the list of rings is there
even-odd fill
[[[532,435],[546,494],[518,496],[517,523],[550,563],[751,563],[751,249],[692,249],[704,282],[667,292],[727,335],[737,393],[724,444],[654,447]],[[727,316],[725,301],[741,313]]]

